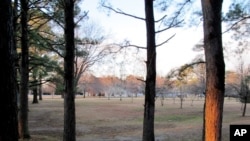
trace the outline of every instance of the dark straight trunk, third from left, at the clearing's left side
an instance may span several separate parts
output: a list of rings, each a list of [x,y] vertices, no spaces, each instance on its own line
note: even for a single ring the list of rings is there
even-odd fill
[[[75,141],[75,92],[74,92],[74,0],[64,0],[65,58],[64,58],[64,141]]]

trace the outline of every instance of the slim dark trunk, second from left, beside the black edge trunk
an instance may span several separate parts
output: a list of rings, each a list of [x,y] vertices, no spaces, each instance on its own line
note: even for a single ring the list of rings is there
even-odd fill
[[[28,128],[28,82],[29,82],[29,45],[28,45],[28,0],[21,0],[21,93],[19,112],[19,135],[30,138]]]

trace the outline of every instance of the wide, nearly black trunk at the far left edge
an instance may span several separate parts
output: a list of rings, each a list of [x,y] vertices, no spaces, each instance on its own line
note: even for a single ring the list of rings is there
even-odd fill
[[[10,0],[0,1],[0,141],[18,141],[15,50]]]

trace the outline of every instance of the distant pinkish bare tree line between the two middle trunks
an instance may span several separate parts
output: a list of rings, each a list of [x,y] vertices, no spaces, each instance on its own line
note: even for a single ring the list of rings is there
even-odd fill
[[[137,97],[143,93],[143,82],[138,76],[129,75],[124,79],[117,76],[96,77],[92,74],[85,74],[80,80],[78,92],[83,96],[102,96],[108,97]],[[122,99],[121,99],[122,100]]]

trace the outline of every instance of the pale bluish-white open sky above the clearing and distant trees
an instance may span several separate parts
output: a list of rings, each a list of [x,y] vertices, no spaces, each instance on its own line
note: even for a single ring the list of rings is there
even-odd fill
[[[229,7],[229,1],[230,0],[224,1],[223,9],[227,9]],[[109,2],[114,8],[119,8],[124,12],[144,17],[143,0],[109,0]],[[189,11],[197,9],[200,6],[199,2],[193,4]],[[100,24],[100,26],[104,28],[105,34],[109,35],[108,42],[119,43],[126,39],[131,41],[132,44],[145,46],[146,32],[144,21],[116,14],[112,11],[108,12],[107,9],[100,7],[99,0],[84,0],[81,3],[81,9],[89,12],[89,20]],[[159,10],[155,10],[155,19],[159,19],[163,14],[164,13],[159,12]],[[192,20],[197,19],[191,19],[191,21]],[[199,21],[199,19],[197,21]],[[157,74],[165,76],[172,68],[189,63],[197,54],[201,54],[202,52],[194,52],[192,48],[195,44],[202,40],[202,31],[202,22],[198,22],[195,25],[168,30],[161,35],[157,35],[156,40],[160,43],[164,39],[175,34],[175,37],[167,44],[157,48]],[[142,56],[142,58],[144,56],[145,58],[145,54],[145,51],[140,51],[138,56]],[[125,67],[128,67],[125,69],[126,74],[129,75],[130,73],[135,73],[134,69],[138,67],[138,70],[141,70],[138,73],[144,75],[144,66],[142,64],[135,63],[138,62],[131,61],[126,64]],[[110,71],[111,69],[115,69],[115,71]],[[105,63],[99,63],[98,65],[93,66],[91,70],[96,75],[112,75],[110,74],[111,72],[119,75],[120,68],[119,66],[116,66],[116,68],[110,68],[107,67]]]

